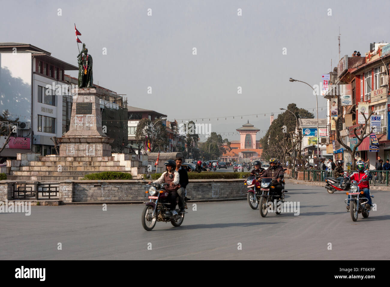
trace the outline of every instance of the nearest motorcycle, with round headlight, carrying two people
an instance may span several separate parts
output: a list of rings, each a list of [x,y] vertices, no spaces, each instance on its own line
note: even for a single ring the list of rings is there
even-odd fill
[[[150,231],[154,228],[157,221],[165,221],[172,223],[173,226],[180,226],[184,220],[184,213],[179,213],[179,209],[170,210],[170,203],[167,201],[168,191],[165,190],[169,184],[147,184],[148,190],[145,191],[150,199],[145,204],[142,211],[142,227],[145,230]],[[187,201],[190,199],[186,197],[187,191],[185,191],[185,209],[187,209]]]

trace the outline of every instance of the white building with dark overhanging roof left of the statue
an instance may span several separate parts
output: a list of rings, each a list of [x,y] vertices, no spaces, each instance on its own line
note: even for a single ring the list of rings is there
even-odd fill
[[[29,138],[33,152],[55,153],[50,137],[66,132],[66,97],[71,91],[64,72],[72,70],[78,67],[33,45],[0,43],[0,113],[8,110],[10,118],[25,123],[18,137]],[[2,156],[16,157],[17,152],[23,151],[8,149]]]

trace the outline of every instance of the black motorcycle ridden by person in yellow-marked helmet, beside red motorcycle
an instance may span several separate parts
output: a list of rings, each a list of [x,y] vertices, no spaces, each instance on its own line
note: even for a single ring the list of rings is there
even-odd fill
[[[287,193],[286,190],[284,190],[284,184],[282,184],[282,194],[279,196],[277,192],[275,191],[274,184],[277,184],[277,180],[273,180],[271,177],[263,177],[260,184],[260,215],[261,217],[266,217],[268,214],[268,206],[269,203],[273,204],[276,201],[276,205],[274,205],[274,211],[276,214],[280,214],[281,212],[278,211],[277,206],[278,202],[284,202],[284,194]]]

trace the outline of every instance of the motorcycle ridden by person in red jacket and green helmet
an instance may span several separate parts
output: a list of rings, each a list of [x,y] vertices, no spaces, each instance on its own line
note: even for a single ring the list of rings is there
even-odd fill
[[[364,172],[366,174],[365,176],[369,174],[367,170]],[[359,184],[363,180],[367,180],[365,176],[363,176],[363,178],[359,182],[356,182],[356,180],[354,180],[352,182],[351,191],[346,193],[347,195],[350,196],[350,198],[349,199],[347,198],[346,200],[344,200],[344,202],[348,204],[348,200],[349,200],[349,212],[351,213],[352,221],[358,220],[359,213],[361,213],[364,218],[367,218],[371,210],[371,207],[370,208],[366,207],[368,198],[360,197],[360,194],[364,194],[364,191],[360,191]],[[371,197],[373,198],[374,196],[371,195]]]

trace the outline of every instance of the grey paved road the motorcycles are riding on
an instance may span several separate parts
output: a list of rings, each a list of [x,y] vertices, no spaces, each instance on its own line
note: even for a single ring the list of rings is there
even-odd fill
[[[390,259],[389,192],[375,191],[378,211],[353,222],[345,194],[288,187],[286,200],[300,201],[299,216],[262,218],[244,200],[197,203],[181,227],[158,222],[150,232],[141,226],[143,205],[34,206],[31,216],[0,214],[0,259]]]

